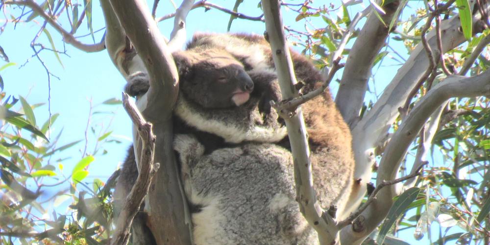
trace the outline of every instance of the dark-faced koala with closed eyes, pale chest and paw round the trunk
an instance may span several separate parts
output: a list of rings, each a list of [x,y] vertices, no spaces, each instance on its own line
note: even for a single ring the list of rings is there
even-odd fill
[[[211,47],[196,47],[174,52],[178,68],[180,90],[174,108],[174,133],[194,135],[205,145],[207,152],[246,140],[276,142],[286,135],[286,128],[278,123],[277,114],[264,115],[259,110],[261,101],[269,101],[258,92],[241,62],[227,51]],[[139,97],[149,88],[146,73],[134,73],[125,86],[130,96]],[[263,91],[258,89],[255,91]],[[115,212],[131,190],[138,170],[133,147],[123,163],[115,197]],[[133,221],[132,232],[138,237],[151,237],[145,227],[143,213]],[[153,244],[152,238],[143,240]]]

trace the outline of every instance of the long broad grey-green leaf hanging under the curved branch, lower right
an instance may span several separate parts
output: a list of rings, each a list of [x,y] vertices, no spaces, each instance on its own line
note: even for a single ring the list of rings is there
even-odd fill
[[[396,199],[396,201],[390,208],[390,211],[388,211],[388,215],[386,216],[386,219],[383,222],[383,226],[378,233],[378,238],[376,240],[378,244],[383,244],[383,241],[385,240],[388,231],[392,228],[398,217],[405,212],[407,207],[410,206],[412,202],[414,202],[419,192],[419,188],[412,187],[406,190],[404,193],[402,193],[402,195],[398,197],[398,199]]]

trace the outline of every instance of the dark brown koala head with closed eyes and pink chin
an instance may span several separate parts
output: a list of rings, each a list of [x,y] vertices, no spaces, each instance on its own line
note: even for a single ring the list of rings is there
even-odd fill
[[[180,96],[204,108],[229,108],[248,101],[253,81],[244,66],[221,49],[174,52]]]

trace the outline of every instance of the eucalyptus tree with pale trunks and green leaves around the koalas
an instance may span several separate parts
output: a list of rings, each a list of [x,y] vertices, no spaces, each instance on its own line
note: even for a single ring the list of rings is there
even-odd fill
[[[166,137],[172,134],[170,111],[178,89],[178,83],[174,82],[178,77],[170,53],[172,50],[181,49],[187,38],[187,14],[198,7],[215,8],[230,14],[229,25],[235,18],[265,22],[272,49],[287,50],[279,6],[296,13],[295,21],[305,21],[305,30],[300,31],[292,27],[285,27],[285,29],[289,33],[290,40],[294,38],[306,40],[299,42],[299,45],[304,48],[303,52],[315,59],[319,68],[323,69],[326,77],[325,85],[335,77],[336,72],[342,72],[336,102],[353,135],[355,177],[359,185],[357,195],[352,196],[349,201],[349,205],[352,205],[354,210],[365,199],[372,170],[376,171],[375,189],[369,191],[370,196],[346,221],[332,222],[328,216],[322,216],[312,210],[313,206],[304,206],[308,221],[321,221],[316,227],[319,227],[317,231],[322,241],[359,244],[370,236],[370,239],[382,243],[384,240],[393,239],[387,235],[390,230],[392,234],[397,234],[407,227],[415,230],[417,238],[421,238],[429,230],[430,224],[437,219],[441,243],[455,239],[460,242],[489,243],[490,198],[487,169],[490,100],[487,97],[490,95],[490,73],[487,71],[489,67],[487,46],[490,38],[486,27],[490,23],[486,2],[434,0],[425,2],[423,7],[414,11],[410,10],[406,0],[383,3],[371,1],[365,10],[358,11],[352,19],[349,14],[357,8],[350,9],[349,13],[347,5],[358,4],[355,1],[345,2],[338,6],[338,9],[334,5],[336,3],[327,7],[315,6],[310,1],[300,4],[262,1],[259,7],[263,9],[264,16],[259,17],[238,13],[241,4],[242,1],[238,0],[233,10],[227,10],[207,1],[183,1],[175,14],[154,18],[158,1],[154,2],[152,15],[144,1],[111,1],[110,4],[109,1],[101,2],[107,26],[105,44],[114,64],[123,76],[141,69],[147,70],[150,76],[150,90],[146,98],[140,100],[146,103],[138,106],[145,119],[153,124],[153,133],[156,135],[154,148],[163,149],[155,151],[154,159],[151,160],[150,157],[147,162],[148,166],[151,166],[152,162],[165,163],[160,164],[160,169],[154,177],[155,188],[148,192],[146,201],[150,227],[153,227],[152,233],[158,244],[164,244],[165,241],[170,244],[190,243],[189,227],[186,225],[186,221],[189,223],[189,217],[186,219],[185,202],[183,198],[175,198],[175,196],[183,197],[183,194],[179,189],[176,167],[169,164],[174,162],[171,137]],[[29,16],[24,13],[19,14],[13,18],[14,22],[42,20],[44,25],[41,31],[45,30],[46,25],[51,25],[62,35],[65,43],[77,49],[87,52],[103,49],[103,42],[85,45],[73,36],[80,26],[79,23],[84,19],[88,22],[88,26],[91,26],[93,8],[90,1],[84,1],[84,11],[81,15],[78,14],[78,10],[75,10],[78,9],[78,4],[61,0],[46,1],[43,4],[37,4],[32,0],[4,0],[2,5],[22,6],[22,9],[32,11]],[[64,11],[68,13],[71,31],[63,29],[60,25],[59,17]],[[330,12],[339,15],[331,18]],[[400,17],[402,13],[412,15],[405,19]],[[171,17],[174,18],[174,27],[170,41],[166,42],[159,34],[153,19]],[[366,22],[362,28],[357,29],[357,25],[364,17]],[[323,20],[324,24],[317,28],[312,23],[315,21],[318,23],[319,19]],[[91,32],[93,33],[92,30]],[[392,42],[397,40],[403,41],[404,46],[409,50],[410,56],[406,60],[399,50],[392,48]],[[349,41],[353,42],[352,47],[346,49],[345,47],[349,47],[347,45]],[[39,51],[35,49],[37,46],[33,45],[33,47],[35,52]],[[41,48],[47,49],[44,46]],[[138,55],[135,55],[136,51]],[[58,51],[53,49],[53,52]],[[379,98],[372,98],[370,100],[374,102],[366,103],[366,96],[372,94],[373,90],[368,86],[369,81],[376,78],[374,76],[371,79],[371,73],[386,72],[382,70],[380,64],[388,62],[390,56],[392,60],[398,62],[399,70],[393,77],[389,77],[390,82],[386,84]],[[289,75],[291,67],[287,65],[286,59],[278,58],[275,62],[282,83],[287,84],[294,80],[294,77]],[[343,70],[340,70],[343,66],[341,62],[345,62]],[[138,65],[141,63],[145,67]],[[465,76],[468,72],[469,76]],[[377,97],[376,94],[375,96]],[[46,132],[35,127],[29,112],[31,106],[27,102],[21,102],[26,119],[7,110],[4,116],[7,118],[6,122],[14,128],[19,130],[25,128],[43,137]],[[285,108],[288,105],[282,106]],[[5,108],[10,107],[7,104]],[[295,110],[295,107],[292,110]],[[157,111],[166,113],[155,113]],[[297,118],[290,120],[290,124],[294,124],[293,127],[301,127],[301,122]],[[291,133],[297,130],[288,131]],[[7,144],[6,147],[19,144],[23,145],[18,146],[21,149],[27,147],[26,143],[20,140],[15,142],[14,136],[3,137],[15,143]],[[304,137],[290,134],[292,144],[304,144],[301,138]],[[150,143],[144,143],[145,139],[141,141],[138,141],[138,137],[135,139],[137,139],[135,146],[139,149],[153,147]],[[439,158],[444,160],[443,164],[435,164],[432,160],[430,167],[424,167],[430,149],[433,152],[441,152]],[[35,150],[35,148],[28,150]],[[3,152],[12,152],[12,149],[6,148]],[[304,150],[293,154],[303,159],[303,162],[307,161]],[[23,157],[28,159],[28,155]],[[12,157],[12,159],[18,158]],[[89,160],[90,158],[85,161]],[[39,191],[34,193],[25,189],[25,184],[23,185],[25,180],[22,179],[24,172],[13,167],[22,164],[17,160],[2,159],[2,181],[7,184],[8,187],[5,188],[9,191],[29,194],[22,195],[23,198],[20,199],[36,199]],[[306,169],[300,171],[302,178],[311,178]],[[32,176],[32,172],[29,173]],[[167,173],[166,176],[170,179],[166,179],[162,173]],[[417,177],[420,173],[421,176]],[[463,173],[468,175],[465,177]],[[398,176],[401,177],[397,178]],[[24,182],[19,182],[18,179]],[[147,188],[148,184],[147,181],[144,187]],[[106,201],[106,191],[110,185],[106,187],[101,189],[105,191],[105,196],[98,199],[98,204]],[[301,186],[297,188],[300,188],[305,195],[313,193],[313,190],[308,188]],[[174,198],[164,198],[165,195],[162,193]],[[126,224],[131,222],[142,198],[143,196],[136,198],[138,200],[135,200],[132,209],[127,208],[123,211],[127,213],[120,216],[120,220],[116,223],[118,228],[127,227]],[[299,205],[304,203],[300,202]],[[22,213],[19,211],[22,208],[21,204],[13,204],[9,208],[13,215]],[[78,210],[79,214],[87,214],[84,212],[87,209],[83,195],[73,208]],[[410,216],[413,216],[413,219]],[[164,221],[162,217],[166,220]],[[326,217],[326,220],[320,217]],[[13,220],[15,219],[10,219],[7,224],[11,225]],[[79,227],[76,229],[78,233],[70,234],[82,234],[79,237],[86,239],[87,243],[101,239],[101,237],[92,238],[94,227],[97,227],[93,226],[94,224],[98,223],[106,228],[108,225],[107,220],[94,221],[91,215],[88,215],[83,222],[77,220],[82,225],[72,226]],[[78,225],[75,221],[71,224]],[[449,231],[450,227],[456,225],[460,228],[452,228]],[[444,234],[442,234],[442,227],[447,227]],[[107,229],[106,238],[127,239],[127,233],[118,228],[116,228],[117,234],[112,234],[110,229]],[[374,230],[376,232],[372,233]],[[456,233],[454,230],[462,232]],[[55,239],[57,234],[67,231],[70,231],[70,226],[66,228],[65,221],[58,220],[56,229],[29,234],[36,239]],[[6,239],[17,233],[2,230],[0,234]],[[428,235],[431,241],[430,232]]]

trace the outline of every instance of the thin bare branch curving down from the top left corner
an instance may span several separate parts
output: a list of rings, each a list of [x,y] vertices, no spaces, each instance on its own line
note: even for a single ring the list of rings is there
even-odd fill
[[[104,42],[101,41],[98,44],[83,44],[80,41],[76,40],[76,38],[67,30],[63,29],[61,25],[58,25],[56,21],[51,18],[46,12],[44,12],[43,8],[39,6],[36,2],[33,0],[24,0],[24,1],[19,1],[19,0],[9,0],[9,1],[4,1],[5,4],[13,4],[13,5],[24,5],[32,9],[32,11],[38,13],[46,22],[48,22],[49,25],[51,25],[56,31],[58,31],[61,36],[63,37],[63,41],[65,43],[71,44],[73,47],[80,49],[85,52],[98,52],[100,50],[104,50]]]

